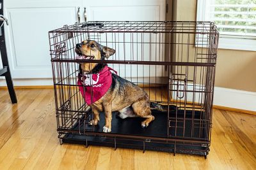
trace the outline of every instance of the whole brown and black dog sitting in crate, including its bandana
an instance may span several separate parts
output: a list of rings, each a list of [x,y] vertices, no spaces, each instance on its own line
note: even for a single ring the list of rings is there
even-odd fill
[[[78,63],[79,59],[105,60],[115,53],[113,48],[102,46],[96,41],[90,39],[77,43],[75,51],[77,53],[76,60]],[[104,84],[109,86],[108,89],[105,88],[103,96],[97,96],[97,91],[93,91],[92,93],[92,89],[87,89],[87,96],[91,97],[90,94],[94,95],[95,93],[95,96],[99,98],[95,99],[95,101],[92,101],[94,99],[86,100],[86,103],[90,104],[94,115],[93,120],[90,122],[91,125],[98,124],[100,121],[99,114],[101,111],[105,112],[105,125],[103,127],[103,132],[111,132],[112,111],[118,111],[118,116],[120,118],[145,118],[145,120],[141,122],[141,127],[143,128],[148,127],[150,122],[155,119],[151,114],[148,94],[143,89],[131,81],[125,80],[117,74],[111,73],[111,68],[109,68],[107,64],[90,62],[80,62],[79,64],[81,73],[77,83],[79,83],[81,87],[80,91],[83,96],[86,96],[86,92],[83,92],[83,85],[88,85],[88,82],[91,83],[93,89],[100,86],[99,90],[102,90],[104,89]],[[92,75],[86,76],[86,74]],[[101,74],[106,74],[107,76],[100,80],[99,76],[101,76]],[[93,75],[95,75],[94,80]],[[100,81],[102,81],[102,83],[100,83]],[[95,84],[95,82],[99,84]]]

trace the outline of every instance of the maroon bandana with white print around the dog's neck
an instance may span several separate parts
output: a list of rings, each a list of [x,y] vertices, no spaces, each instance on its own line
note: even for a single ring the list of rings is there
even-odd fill
[[[84,74],[84,76],[82,76],[81,73],[78,74],[77,85],[79,85],[79,90],[86,104],[90,105],[95,103],[95,101],[98,101],[108,92],[112,84],[111,70],[116,73],[111,67],[105,66],[102,71],[97,74]]]

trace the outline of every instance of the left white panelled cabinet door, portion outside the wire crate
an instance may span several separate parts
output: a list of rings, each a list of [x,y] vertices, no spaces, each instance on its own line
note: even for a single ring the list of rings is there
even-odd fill
[[[51,78],[48,31],[77,22],[83,1],[8,0],[6,44],[13,78]]]

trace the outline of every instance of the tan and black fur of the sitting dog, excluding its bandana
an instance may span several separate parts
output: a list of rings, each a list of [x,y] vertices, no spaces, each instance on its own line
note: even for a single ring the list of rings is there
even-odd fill
[[[104,60],[115,53],[115,50],[102,46],[96,41],[85,40],[76,45],[77,59]],[[88,57],[90,56],[90,57]],[[81,63],[83,72],[98,74],[106,64]],[[105,112],[105,126],[103,132],[111,132],[112,111],[119,111],[120,118],[143,117],[141,127],[147,127],[154,116],[151,115],[150,101],[146,92],[140,87],[111,73],[112,83],[108,91],[98,101],[92,103],[94,118],[91,124],[97,125],[100,111]]]

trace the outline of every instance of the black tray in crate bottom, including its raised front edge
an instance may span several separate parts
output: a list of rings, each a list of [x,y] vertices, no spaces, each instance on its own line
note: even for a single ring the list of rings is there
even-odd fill
[[[138,136],[148,136],[148,137],[157,137],[157,138],[168,138],[168,124],[172,126],[173,120],[175,123],[177,122],[177,129],[170,127],[169,133],[170,138],[178,138],[178,139],[200,139],[202,141],[207,141],[207,131],[205,125],[201,123],[201,127],[196,125],[200,124],[202,117],[204,114],[200,111],[186,111],[185,120],[184,118],[184,110],[177,111],[177,118],[176,118],[176,111],[170,111],[170,121],[168,120],[168,113],[152,110],[152,115],[154,115],[155,120],[150,123],[147,128],[141,127],[141,122],[145,120],[144,118],[119,118],[117,113],[113,113],[112,119],[112,129],[111,133],[113,134],[125,134],[125,135],[138,135]],[[193,120],[194,118],[195,120]],[[105,124],[104,120],[104,113],[100,113],[100,122],[98,125],[95,125],[95,132],[102,132],[102,129]],[[168,120],[168,121],[167,121]],[[176,121],[177,120],[177,121]],[[205,146],[198,146],[198,145],[173,145],[170,143],[155,143],[155,142],[144,142],[143,141],[131,141],[128,139],[110,139],[104,138],[100,136],[84,136],[83,131],[84,127],[86,127],[86,131],[92,131],[92,126],[85,125],[81,121],[80,124],[77,124],[73,130],[79,130],[82,135],[79,134],[66,134],[62,141],[63,143],[78,143],[78,144],[86,144],[86,138],[88,145],[98,145],[98,146],[111,146],[114,147],[116,143],[116,147],[120,148],[134,148],[134,149],[145,149],[145,150],[157,150],[163,152],[175,152],[177,153],[192,153],[196,155],[205,155],[208,153],[208,147]],[[185,124],[185,126],[184,126]],[[191,129],[192,124],[194,124],[193,131]],[[80,127],[80,128],[79,128]],[[183,128],[185,127],[185,129]],[[175,132],[176,131],[176,132]],[[199,138],[200,137],[200,138]],[[205,138],[205,139],[204,139]],[[198,151],[196,151],[198,150]]]

